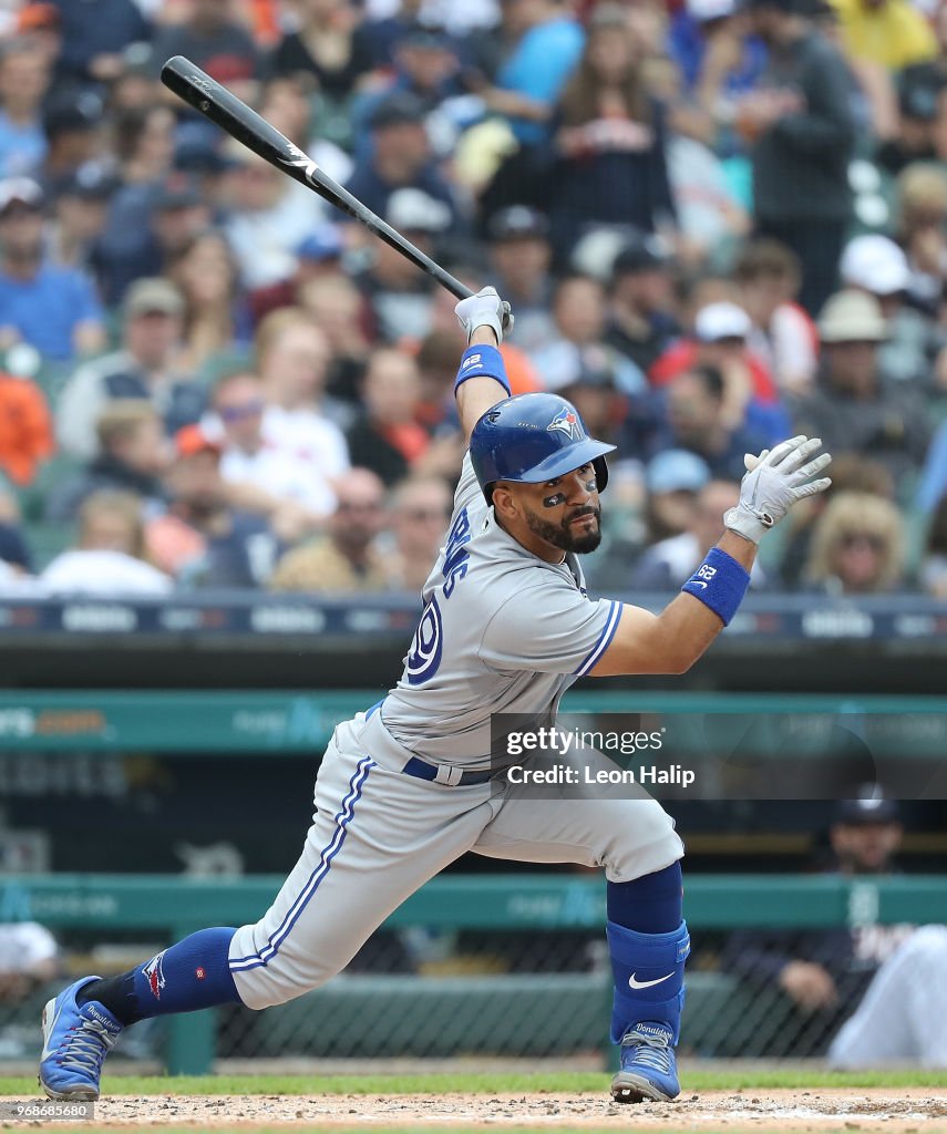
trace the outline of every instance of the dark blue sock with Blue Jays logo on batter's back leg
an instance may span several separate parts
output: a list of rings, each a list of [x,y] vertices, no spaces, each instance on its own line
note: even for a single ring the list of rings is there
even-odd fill
[[[228,962],[235,929],[202,929],[151,960],[109,980],[86,984],[77,1000],[96,1000],[121,1024],[152,1016],[239,1004]]]

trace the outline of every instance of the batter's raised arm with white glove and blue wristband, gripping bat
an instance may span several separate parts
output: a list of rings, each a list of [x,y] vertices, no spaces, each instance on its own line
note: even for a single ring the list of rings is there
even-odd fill
[[[462,299],[455,311],[467,333],[468,346],[460,359],[454,395],[464,440],[470,441],[479,418],[509,397],[509,381],[499,346],[513,327],[513,315],[509,304],[505,304],[492,287]],[[483,349],[477,350],[477,347]]]

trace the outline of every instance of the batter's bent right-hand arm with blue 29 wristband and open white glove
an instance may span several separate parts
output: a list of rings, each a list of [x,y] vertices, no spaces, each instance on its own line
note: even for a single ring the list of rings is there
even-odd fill
[[[759,457],[747,454],[739,503],[724,516],[726,531],[683,593],[659,615],[623,606],[615,634],[592,677],[618,674],[683,674],[736,613],[750,583],[762,536],[798,500],[825,492],[831,481],[817,477],[831,460],[819,438],[795,437]],[[817,477],[813,480],[813,477]]]

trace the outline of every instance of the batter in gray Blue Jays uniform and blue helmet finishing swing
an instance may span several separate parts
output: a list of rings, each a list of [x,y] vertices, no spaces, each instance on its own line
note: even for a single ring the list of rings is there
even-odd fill
[[[339,725],[303,853],[252,925],[208,929],[121,976],[76,981],[43,1012],[40,1081],[95,1099],[122,1027],[230,1001],[282,1004],[343,970],[420,886],[467,850],[603,868],[615,976],[612,1095],[673,1099],[690,951],[673,820],[650,798],[540,802],[489,767],[492,713],[549,723],[576,677],[680,674],[736,611],[756,543],[828,455],[794,438],[747,457],[726,531],[660,615],[585,592],[614,446],[550,393],[509,397],[497,349],[511,322],[492,288],[457,305],[470,344],[455,392],[470,452],[400,680]],[[811,459],[813,458],[813,459]]]

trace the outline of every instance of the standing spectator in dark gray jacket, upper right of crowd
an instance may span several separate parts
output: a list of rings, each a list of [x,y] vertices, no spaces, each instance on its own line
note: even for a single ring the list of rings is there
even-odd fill
[[[739,101],[737,126],[752,145],[758,232],[800,257],[800,303],[814,316],[835,287],[852,212],[855,130],[845,60],[804,10],[805,0],[753,0],[770,58],[764,84]]]

